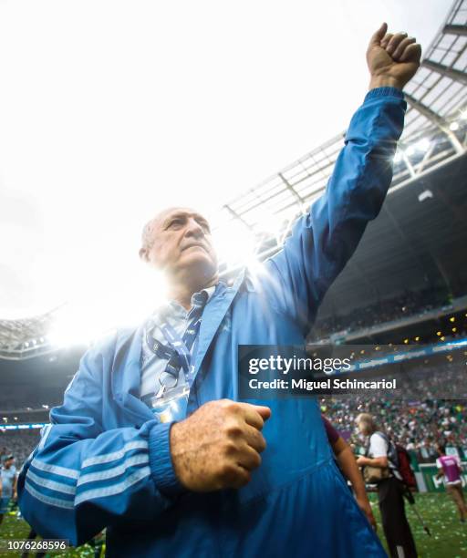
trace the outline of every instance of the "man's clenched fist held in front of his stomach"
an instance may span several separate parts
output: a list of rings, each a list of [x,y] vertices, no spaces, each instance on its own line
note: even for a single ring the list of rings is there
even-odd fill
[[[171,460],[177,478],[196,492],[240,488],[261,464],[267,407],[230,399],[210,401],[171,427]]]

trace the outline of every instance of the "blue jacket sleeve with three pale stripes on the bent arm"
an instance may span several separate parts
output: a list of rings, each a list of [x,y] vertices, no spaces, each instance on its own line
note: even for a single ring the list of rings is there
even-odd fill
[[[42,536],[82,544],[108,525],[157,522],[179,490],[170,424],[102,427],[102,356],[91,350],[20,471],[19,505]]]

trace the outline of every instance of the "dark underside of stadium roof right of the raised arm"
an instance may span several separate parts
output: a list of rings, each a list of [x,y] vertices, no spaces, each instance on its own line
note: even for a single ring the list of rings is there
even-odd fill
[[[406,296],[423,298],[420,312],[425,305],[450,312],[450,301],[467,293],[466,177],[467,154],[388,196],[329,288],[318,328],[322,319],[357,319],[358,311],[369,307],[375,321],[388,321],[381,304]],[[396,317],[401,306],[391,307]]]

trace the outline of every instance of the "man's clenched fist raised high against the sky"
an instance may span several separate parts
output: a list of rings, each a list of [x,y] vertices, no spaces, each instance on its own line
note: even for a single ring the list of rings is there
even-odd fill
[[[383,24],[371,37],[367,50],[371,75],[369,88],[389,86],[402,89],[420,66],[421,47],[407,33],[387,33]]]

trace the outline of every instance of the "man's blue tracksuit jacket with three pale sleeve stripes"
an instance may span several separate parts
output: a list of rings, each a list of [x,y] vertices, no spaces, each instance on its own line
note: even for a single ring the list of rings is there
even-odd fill
[[[303,345],[329,285],[384,201],[406,103],[370,91],[354,115],[326,193],[296,222],[259,278],[220,285],[202,315],[191,413],[238,399],[239,345]],[[139,399],[141,328],[83,356],[18,481],[26,521],[44,537],[86,542],[108,527],[111,556],[384,556],[332,459],[315,398],[272,408],[267,448],[240,490],[185,491],[170,424]],[[254,402],[254,401],[252,401]]]

